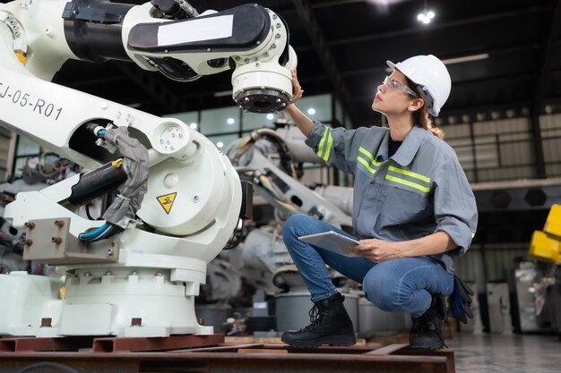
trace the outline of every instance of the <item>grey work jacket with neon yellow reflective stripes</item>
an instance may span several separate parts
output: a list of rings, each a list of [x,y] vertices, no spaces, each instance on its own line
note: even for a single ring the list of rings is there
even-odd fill
[[[477,222],[475,198],[453,148],[414,126],[388,158],[390,131],[331,129],[315,122],[306,144],[341,171],[354,174],[354,233],[359,239],[414,240],[438,231],[458,246],[431,255],[448,272],[470,247]]]

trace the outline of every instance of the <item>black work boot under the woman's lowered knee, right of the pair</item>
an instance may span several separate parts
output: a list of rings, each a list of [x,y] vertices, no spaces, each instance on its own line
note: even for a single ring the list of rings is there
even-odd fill
[[[433,295],[433,301],[427,312],[413,318],[413,327],[409,334],[409,344],[414,349],[440,350],[448,347],[442,336],[442,321],[444,320],[444,297]]]

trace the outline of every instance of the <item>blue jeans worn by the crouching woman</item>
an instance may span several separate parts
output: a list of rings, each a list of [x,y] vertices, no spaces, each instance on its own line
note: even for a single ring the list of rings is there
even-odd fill
[[[306,215],[290,216],[282,229],[284,243],[314,302],[337,292],[325,265],[362,284],[367,300],[377,308],[409,313],[413,318],[427,311],[431,294],[450,295],[453,291],[453,274],[429,257],[391,259],[376,264],[366,258],[348,258],[298,240],[307,234],[328,231],[349,236]]]

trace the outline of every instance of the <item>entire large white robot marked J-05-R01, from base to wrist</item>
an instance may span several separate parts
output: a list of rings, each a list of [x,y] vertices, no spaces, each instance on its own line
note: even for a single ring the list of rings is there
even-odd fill
[[[245,30],[247,21],[261,28]],[[205,44],[210,47],[202,50]],[[206,264],[238,225],[242,187],[236,171],[209,140],[177,119],[51,83],[69,58],[132,59],[184,81],[235,66],[235,100],[247,110],[269,112],[291,98],[289,68],[296,59],[286,27],[254,4],[179,21],[151,4],[0,4],[0,125],[90,170],[118,157],[91,128],[98,135],[99,128],[126,128],[148,149],[150,173],[136,211],[140,220],[129,216],[119,222],[123,233],[99,242],[78,240],[103,224],[80,216],[72,203],[73,187],[87,174],[18,194],[6,217],[27,227],[30,258],[64,266],[66,292],[60,300],[56,289],[63,284],[47,277],[0,276],[0,297],[9,300],[0,309],[0,335],[211,334],[211,326],[196,321],[194,296],[205,282]],[[47,318],[51,327],[41,327]]]

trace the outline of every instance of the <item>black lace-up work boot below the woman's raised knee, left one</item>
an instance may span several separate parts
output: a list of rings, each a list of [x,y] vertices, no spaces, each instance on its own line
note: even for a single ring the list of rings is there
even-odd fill
[[[350,346],[355,344],[355,332],[339,292],[323,301],[316,301],[310,309],[312,324],[297,331],[285,332],[282,342],[294,347]]]

